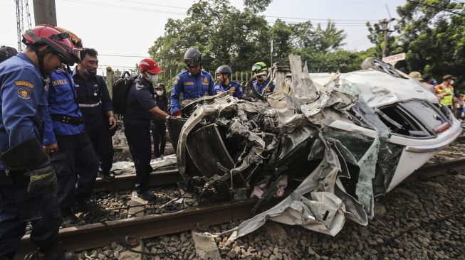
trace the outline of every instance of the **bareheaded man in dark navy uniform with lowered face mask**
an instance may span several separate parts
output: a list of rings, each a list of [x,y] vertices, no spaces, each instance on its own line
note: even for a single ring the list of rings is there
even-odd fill
[[[113,141],[110,131],[116,129],[117,123],[105,80],[96,75],[97,55],[97,50],[91,48],[80,50],[80,62],[73,72],[73,80],[79,109],[83,113],[85,131],[100,159],[103,180],[110,182],[115,180],[115,175],[110,173],[113,164]]]

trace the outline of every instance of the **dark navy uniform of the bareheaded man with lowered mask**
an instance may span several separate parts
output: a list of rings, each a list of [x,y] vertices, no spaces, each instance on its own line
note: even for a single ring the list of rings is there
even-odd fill
[[[113,163],[113,141],[107,112],[113,111],[113,104],[108,94],[103,77],[96,75],[83,79],[77,67],[73,72],[80,112],[83,113],[85,131],[92,141],[95,153],[101,162],[104,175],[110,173]]]

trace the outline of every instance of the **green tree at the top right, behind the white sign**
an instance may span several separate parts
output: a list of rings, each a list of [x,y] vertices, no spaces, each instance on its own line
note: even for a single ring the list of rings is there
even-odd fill
[[[406,71],[437,78],[465,73],[465,9],[459,1],[407,1],[397,8],[399,52],[407,53]]]

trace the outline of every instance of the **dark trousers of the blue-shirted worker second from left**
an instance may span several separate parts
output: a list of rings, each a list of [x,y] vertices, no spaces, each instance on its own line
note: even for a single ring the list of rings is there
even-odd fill
[[[100,162],[85,132],[73,136],[57,134],[56,141],[58,153],[51,155],[51,161],[58,179],[61,214],[67,216],[74,197],[86,197],[92,191]]]

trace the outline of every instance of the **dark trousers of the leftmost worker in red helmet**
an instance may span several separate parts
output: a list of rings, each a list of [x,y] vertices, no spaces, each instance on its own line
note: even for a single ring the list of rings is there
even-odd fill
[[[55,190],[42,195],[28,193],[29,178],[17,172],[10,175],[13,183],[0,184],[0,259],[13,258],[28,222],[34,244],[56,237],[62,222]]]

